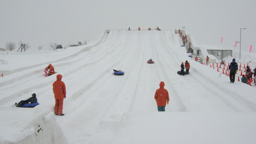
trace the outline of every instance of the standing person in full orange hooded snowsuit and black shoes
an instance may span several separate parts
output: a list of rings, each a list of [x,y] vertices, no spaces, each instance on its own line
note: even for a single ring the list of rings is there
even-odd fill
[[[64,116],[63,110],[63,99],[66,98],[66,86],[63,81],[61,81],[62,75],[56,76],[57,80],[52,84],[54,98],[55,98],[55,115]]]

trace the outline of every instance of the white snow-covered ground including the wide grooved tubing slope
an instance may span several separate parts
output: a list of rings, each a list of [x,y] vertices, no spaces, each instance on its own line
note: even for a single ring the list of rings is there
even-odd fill
[[[252,69],[256,53],[239,60]],[[154,64],[148,64],[152,58]],[[95,42],[47,54],[0,55],[0,143],[254,143],[256,89],[189,58],[174,30],[102,31]],[[205,58],[204,58],[205,59]],[[189,74],[180,76],[188,60]],[[51,63],[63,76],[65,116],[54,115]],[[240,65],[239,63],[239,65]],[[216,66],[216,63],[215,63]],[[113,75],[113,69],[124,71]],[[222,69],[221,69],[222,70]],[[244,70],[244,69],[242,69]],[[238,71],[237,76],[241,71]],[[170,103],[157,112],[164,81]],[[240,76],[241,81],[241,76]],[[14,103],[36,93],[40,105]],[[36,128],[43,133],[36,138]]]

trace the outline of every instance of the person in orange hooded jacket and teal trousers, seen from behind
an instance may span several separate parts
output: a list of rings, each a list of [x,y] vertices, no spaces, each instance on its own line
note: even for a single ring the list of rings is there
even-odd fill
[[[167,105],[169,104],[169,93],[168,91],[164,88],[165,84],[163,81],[160,82],[159,84],[160,88],[156,90],[155,92],[155,100],[157,104],[157,110],[158,111],[165,111],[165,106],[166,102]]]

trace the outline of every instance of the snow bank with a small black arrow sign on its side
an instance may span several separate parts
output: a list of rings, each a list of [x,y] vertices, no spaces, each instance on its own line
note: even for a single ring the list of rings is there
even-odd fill
[[[0,111],[1,144],[69,143],[50,110],[0,107]],[[41,129],[37,130],[39,126]]]

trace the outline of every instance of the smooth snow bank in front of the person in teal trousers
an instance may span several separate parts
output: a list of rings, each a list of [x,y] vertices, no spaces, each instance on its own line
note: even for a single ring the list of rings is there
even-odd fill
[[[114,143],[255,143],[256,114],[128,112]]]

